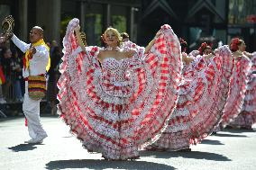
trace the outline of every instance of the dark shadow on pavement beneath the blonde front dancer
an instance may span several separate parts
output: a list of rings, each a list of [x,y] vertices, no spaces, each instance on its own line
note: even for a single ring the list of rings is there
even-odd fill
[[[46,164],[46,169],[73,169],[73,168],[88,168],[88,169],[176,169],[173,166],[157,164],[146,161],[107,161],[96,159],[71,159],[71,160],[56,160]]]

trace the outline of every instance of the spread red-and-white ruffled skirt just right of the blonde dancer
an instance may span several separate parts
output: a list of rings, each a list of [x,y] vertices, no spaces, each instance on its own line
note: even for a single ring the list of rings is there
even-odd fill
[[[188,65],[169,126],[148,149],[189,151],[190,144],[206,138],[221,120],[233,58],[227,46],[216,49],[214,58],[198,58],[206,57],[205,62]]]

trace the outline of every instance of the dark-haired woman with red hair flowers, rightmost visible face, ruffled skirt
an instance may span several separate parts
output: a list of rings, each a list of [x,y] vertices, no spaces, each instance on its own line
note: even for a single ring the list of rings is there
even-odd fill
[[[228,99],[224,106],[224,116],[221,122],[222,126],[228,125],[242,111],[242,104],[251,70],[251,60],[248,58],[247,53],[244,52],[245,48],[246,46],[243,40],[239,38],[233,38],[233,40],[231,40],[230,49],[233,52],[235,65],[233,68],[233,76],[231,77]],[[238,124],[244,121],[242,117],[240,118],[237,120]],[[229,125],[233,126],[234,124],[231,123]]]

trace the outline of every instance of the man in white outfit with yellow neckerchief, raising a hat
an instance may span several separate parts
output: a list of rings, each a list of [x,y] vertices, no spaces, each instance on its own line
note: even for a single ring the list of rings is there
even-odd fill
[[[8,17],[6,17],[8,18]],[[10,18],[7,22],[2,23],[2,28],[6,27],[14,27],[14,24],[9,23]],[[3,26],[4,25],[4,26]],[[25,141],[25,143],[41,143],[43,139],[47,137],[47,133],[43,130],[41,121],[40,121],[40,102],[41,97],[34,98],[29,94],[29,87],[33,86],[33,91],[38,94],[43,94],[41,89],[46,84],[45,81],[45,73],[46,70],[50,67],[49,60],[49,47],[45,44],[43,40],[43,30],[39,26],[34,26],[30,31],[30,44],[19,40],[14,33],[11,31],[12,29],[7,28],[6,37],[11,38],[14,44],[21,49],[25,56],[23,58],[23,78],[25,79],[25,94],[23,100],[23,113],[26,117],[26,122],[29,130],[29,135],[31,137],[30,140]],[[36,81],[33,81],[33,85],[28,83],[29,78],[31,77],[40,77]],[[35,83],[36,82],[36,83]]]

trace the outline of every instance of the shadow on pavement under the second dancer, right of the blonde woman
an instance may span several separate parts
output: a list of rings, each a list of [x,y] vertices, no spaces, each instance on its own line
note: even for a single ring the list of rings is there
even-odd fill
[[[179,151],[165,151],[165,152],[153,152],[153,151],[142,151],[142,157],[156,157],[156,158],[170,158],[170,157],[184,157],[193,159],[206,159],[215,161],[231,161],[228,157],[224,157],[220,154],[210,153],[210,152],[179,152]]]

